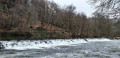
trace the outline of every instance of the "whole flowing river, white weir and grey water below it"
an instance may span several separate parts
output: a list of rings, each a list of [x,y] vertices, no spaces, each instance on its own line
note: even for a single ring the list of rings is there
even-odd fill
[[[120,40],[55,39],[0,41],[0,58],[120,58]]]

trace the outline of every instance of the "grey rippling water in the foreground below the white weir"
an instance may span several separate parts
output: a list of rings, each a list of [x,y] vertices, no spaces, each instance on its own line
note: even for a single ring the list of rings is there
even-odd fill
[[[64,44],[67,44],[66,42],[69,43],[69,41],[65,41]],[[90,42],[84,44],[76,44],[74,46],[59,45],[52,48],[44,48],[38,50],[11,50],[12,52],[6,50],[3,51],[4,53],[0,52],[0,54],[4,54],[4,57],[0,55],[0,58],[120,58],[119,42],[120,41]],[[48,43],[50,44],[50,42]],[[40,43],[35,42],[35,44]],[[43,45],[45,44],[46,43]],[[63,42],[61,44],[63,44]]]

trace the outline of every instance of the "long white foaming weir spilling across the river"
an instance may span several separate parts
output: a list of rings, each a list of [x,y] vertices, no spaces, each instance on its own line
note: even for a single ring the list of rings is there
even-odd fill
[[[53,39],[53,40],[12,40],[12,41],[0,41],[0,49],[15,49],[15,50],[27,50],[27,49],[44,49],[57,46],[71,46],[80,43],[98,42],[98,41],[111,41],[107,38],[96,39]]]

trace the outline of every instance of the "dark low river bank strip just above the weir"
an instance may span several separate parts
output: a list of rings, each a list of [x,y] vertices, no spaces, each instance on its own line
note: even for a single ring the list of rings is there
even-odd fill
[[[74,39],[74,38],[109,38],[112,40],[120,37],[72,37],[71,34],[56,31],[38,32],[0,32],[0,40],[43,40],[43,39]]]

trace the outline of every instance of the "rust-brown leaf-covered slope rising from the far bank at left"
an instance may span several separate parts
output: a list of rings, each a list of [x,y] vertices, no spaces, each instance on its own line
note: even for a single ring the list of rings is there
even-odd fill
[[[66,32],[66,30],[53,26],[52,24],[38,23],[30,26],[29,28],[11,28],[11,29],[1,29],[0,30],[1,37],[37,37],[36,39],[45,39],[45,38],[72,38],[70,32]],[[3,39],[0,38],[0,39]],[[6,38],[9,40],[9,38]],[[10,38],[12,39],[12,38]],[[24,38],[26,39],[26,38]],[[34,39],[34,38],[30,38]],[[3,39],[5,40],[5,38]]]

